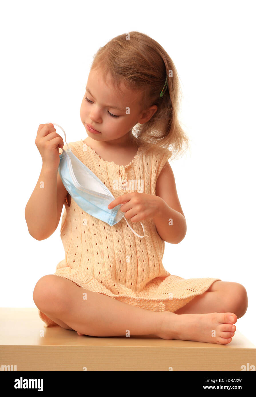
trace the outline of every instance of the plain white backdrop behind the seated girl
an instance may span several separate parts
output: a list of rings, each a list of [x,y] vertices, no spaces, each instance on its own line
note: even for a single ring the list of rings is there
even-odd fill
[[[256,343],[254,11],[250,1],[2,3],[0,306],[35,307],[36,282],[64,258],[60,224],[37,241],[25,222],[42,165],[39,124],[60,124],[68,142],[85,139],[80,105],[93,54],[137,30],[176,66],[191,140],[191,151],[170,163],[187,234],[165,243],[163,264],[183,278],[244,285],[249,305],[236,325]]]

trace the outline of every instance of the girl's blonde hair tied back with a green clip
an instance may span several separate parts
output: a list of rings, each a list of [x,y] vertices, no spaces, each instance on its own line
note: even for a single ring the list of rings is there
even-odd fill
[[[101,69],[106,81],[110,73],[112,83],[142,93],[141,110],[157,105],[157,111],[144,124],[134,126],[133,136],[147,152],[157,150],[169,158],[184,153],[189,139],[178,121],[180,84],[170,56],[151,37],[132,31],[114,37],[100,47],[93,57],[91,69]],[[172,76],[171,76],[172,74]],[[160,97],[167,76],[168,87]],[[169,150],[171,147],[171,150]]]

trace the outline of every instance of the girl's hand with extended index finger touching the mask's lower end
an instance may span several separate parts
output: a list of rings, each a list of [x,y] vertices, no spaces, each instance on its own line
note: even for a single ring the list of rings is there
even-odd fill
[[[120,207],[120,210],[125,212],[125,218],[132,222],[139,222],[157,215],[160,200],[159,196],[132,192],[115,198],[108,208],[111,210],[116,205],[125,203]]]

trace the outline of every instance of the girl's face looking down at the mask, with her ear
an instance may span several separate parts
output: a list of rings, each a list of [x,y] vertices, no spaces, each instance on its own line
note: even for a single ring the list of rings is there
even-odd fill
[[[141,93],[128,90],[121,84],[122,93],[114,89],[110,81],[107,79],[106,85],[99,70],[90,71],[80,117],[88,136],[92,139],[125,143],[126,139],[118,138],[127,134],[128,142],[134,125],[145,123],[156,112],[157,106],[151,106],[150,110],[142,113]],[[87,124],[100,133],[91,132]]]

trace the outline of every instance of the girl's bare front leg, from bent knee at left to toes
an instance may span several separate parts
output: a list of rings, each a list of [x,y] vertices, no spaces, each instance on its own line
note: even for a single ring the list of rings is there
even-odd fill
[[[53,316],[73,330],[92,336],[156,335],[163,339],[227,344],[234,336],[233,324],[237,322],[232,312],[178,315],[141,309],[54,275],[37,282],[33,298],[49,318]]]

